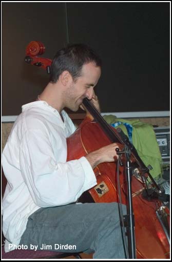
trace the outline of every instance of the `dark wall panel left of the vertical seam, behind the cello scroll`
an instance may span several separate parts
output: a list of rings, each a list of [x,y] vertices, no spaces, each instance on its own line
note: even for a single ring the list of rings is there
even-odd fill
[[[64,3],[2,3],[2,115],[18,115],[49,81],[41,68],[25,62],[31,41],[46,47],[42,57],[52,59],[66,45]]]

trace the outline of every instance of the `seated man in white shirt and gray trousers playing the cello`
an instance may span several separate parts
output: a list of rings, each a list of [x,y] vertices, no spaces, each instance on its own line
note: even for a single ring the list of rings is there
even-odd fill
[[[51,246],[52,251],[93,252],[99,259],[125,258],[118,203],[76,203],[97,184],[95,166],[117,159],[118,145],[67,161],[66,138],[75,126],[64,107],[77,111],[88,98],[100,110],[94,93],[100,76],[101,60],[93,50],[68,46],[56,53],[41,95],[22,106],[2,158],[8,180],[3,198],[6,252],[32,245],[37,250]],[[65,248],[69,245],[73,249]]]

